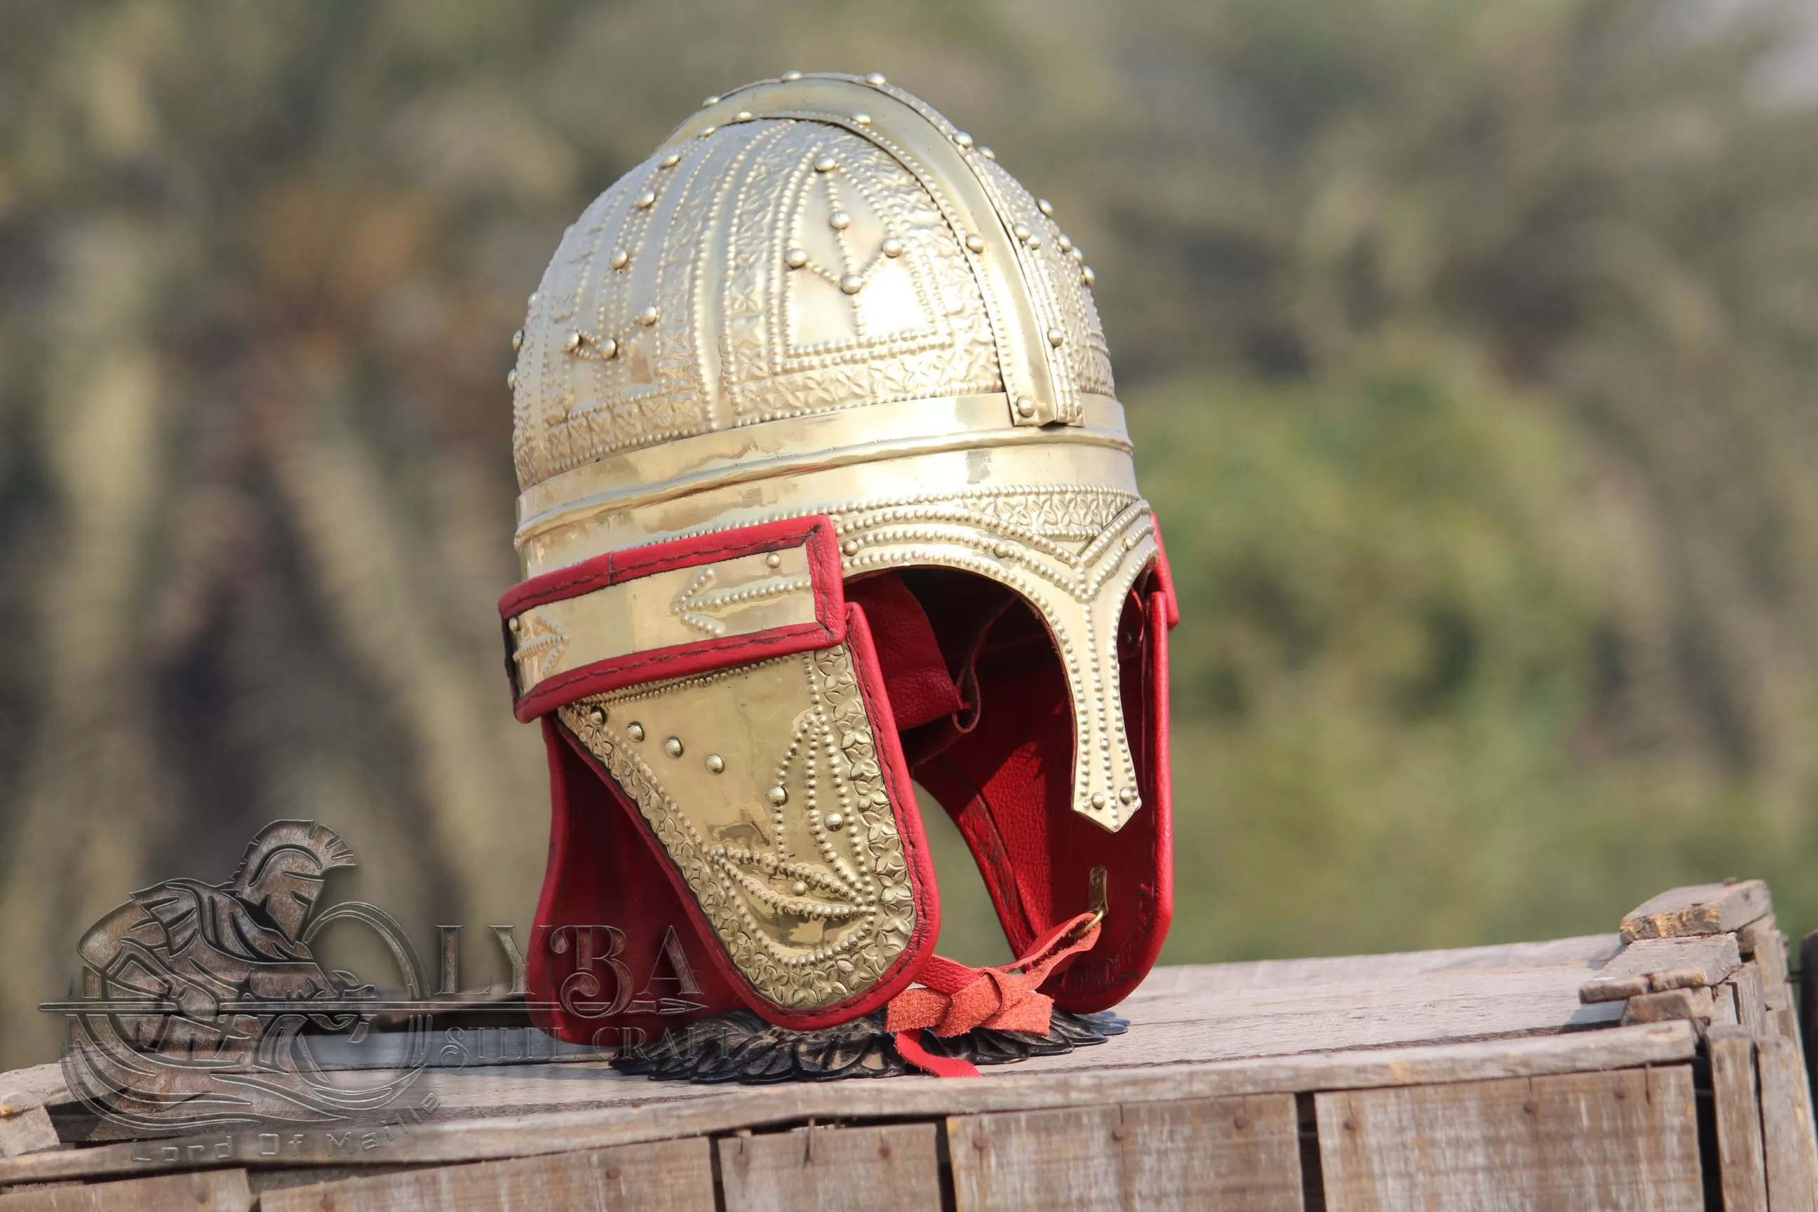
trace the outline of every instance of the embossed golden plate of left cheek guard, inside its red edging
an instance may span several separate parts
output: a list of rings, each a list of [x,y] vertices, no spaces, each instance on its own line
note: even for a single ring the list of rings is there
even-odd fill
[[[902,956],[909,869],[844,643],[580,700],[560,720],[638,805],[760,994],[827,1007]]]

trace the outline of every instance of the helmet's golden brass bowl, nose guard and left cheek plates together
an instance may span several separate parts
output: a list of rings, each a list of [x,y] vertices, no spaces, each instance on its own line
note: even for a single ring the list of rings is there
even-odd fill
[[[531,296],[513,380],[525,578],[833,523],[818,556],[729,540],[744,554],[576,574],[507,618],[524,718],[556,712],[774,1007],[856,1005],[902,976],[933,912],[898,829],[914,807],[893,805],[829,623],[834,551],[845,580],[947,567],[1031,603],[1067,678],[1073,809],[1105,830],[1144,810],[1118,629],[1158,543],[1091,280],[1054,207],[971,134],[882,78],[791,73],[711,98],[587,207]],[[804,625],[827,647],[762,647]],[[585,681],[702,651],[747,663]]]

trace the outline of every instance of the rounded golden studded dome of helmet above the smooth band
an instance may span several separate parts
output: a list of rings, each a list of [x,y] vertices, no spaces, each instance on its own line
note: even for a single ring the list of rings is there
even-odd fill
[[[1082,392],[1113,394],[1060,229],[954,134],[842,76],[751,85],[684,124],[587,207],[533,296],[520,483],[776,416],[1004,392],[1011,423],[1076,423]]]

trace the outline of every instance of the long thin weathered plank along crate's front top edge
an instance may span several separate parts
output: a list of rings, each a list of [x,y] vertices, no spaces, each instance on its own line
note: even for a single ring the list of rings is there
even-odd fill
[[[804,1123],[836,1118],[964,1116],[993,1110],[1044,1110],[1100,1103],[1147,1103],[1233,1094],[1280,1094],[1296,1090],[1349,1090],[1425,1083],[1527,1078],[1540,1074],[1671,1065],[1696,1054],[1698,1032],[1691,1023],[1613,1027],[1609,1030],[1485,1039],[1478,1043],[1427,1045],[1414,1048],[1365,1048],[1304,1056],[1254,1058],[1211,1065],[1109,1068],[1093,1072],[1042,1072],[1040,1061],[987,1072],[969,1081],[938,1078],[893,1078],[889,1081],[840,1081],[791,1087],[725,1090],[709,1087],[694,1099],[611,1107],[578,1112],[538,1112],[487,1119],[429,1119],[395,1143],[351,1154],[333,1148],[324,1132],[302,1139],[282,1157],[267,1157],[256,1132],[198,1137],[209,1152],[225,1143],[224,1163],[233,1165],[396,1165],[487,1161],[576,1148],[604,1148],[634,1141],[731,1132],[742,1127]],[[562,1067],[574,1070],[576,1067]],[[582,1074],[576,1074],[578,1078]],[[654,1085],[654,1083],[651,1083]],[[649,1088],[649,1087],[645,1087]],[[184,1148],[171,1161],[135,1157],[135,1145],[100,1145],[82,1150],[27,1154],[0,1161],[0,1187],[58,1177],[178,1168]]]

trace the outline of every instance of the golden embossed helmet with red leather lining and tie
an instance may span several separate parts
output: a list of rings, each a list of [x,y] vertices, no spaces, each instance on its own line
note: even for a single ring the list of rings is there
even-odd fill
[[[882,76],[711,98],[569,227],[514,338],[500,603],[545,1028],[1045,1030],[1154,963],[1178,616],[1091,285]],[[933,954],[918,785],[1016,965]]]

